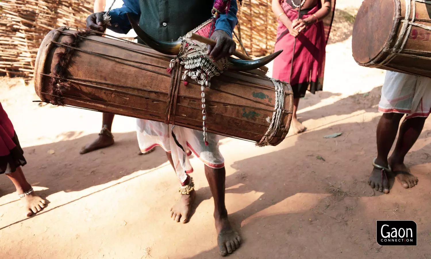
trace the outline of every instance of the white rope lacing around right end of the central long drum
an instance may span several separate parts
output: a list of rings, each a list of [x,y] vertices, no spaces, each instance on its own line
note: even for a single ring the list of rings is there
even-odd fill
[[[274,114],[272,115],[271,124],[269,124],[268,130],[259,143],[256,146],[263,147],[266,145],[271,145],[270,142],[274,136],[278,133],[281,126],[281,121],[283,119],[284,110],[284,86],[283,84],[275,79],[271,79],[275,87],[275,108]]]

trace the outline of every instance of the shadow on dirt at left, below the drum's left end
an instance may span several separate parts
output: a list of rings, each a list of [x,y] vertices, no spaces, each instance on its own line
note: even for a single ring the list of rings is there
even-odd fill
[[[74,132],[64,134],[65,138],[74,135]],[[74,192],[108,183],[135,171],[158,167],[167,161],[162,148],[156,148],[153,154],[137,155],[139,147],[135,132],[116,133],[115,145],[80,155],[81,147],[96,138],[97,134],[91,134],[78,139],[23,148],[27,160],[27,165],[23,167],[25,177],[33,186],[47,187],[48,190],[38,193],[48,196],[60,191]],[[50,155],[50,150],[55,153]],[[13,184],[2,177],[0,195],[14,191]]]

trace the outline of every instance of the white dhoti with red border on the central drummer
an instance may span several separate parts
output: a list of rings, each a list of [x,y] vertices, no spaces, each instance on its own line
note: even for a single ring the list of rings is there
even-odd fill
[[[141,152],[161,146],[171,153],[175,172],[181,184],[187,174],[193,172],[189,156],[194,153],[204,164],[212,168],[222,168],[225,160],[219,151],[219,136],[207,133],[208,146],[203,141],[203,132],[181,126],[166,125],[162,122],[137,119],[137,141]]]

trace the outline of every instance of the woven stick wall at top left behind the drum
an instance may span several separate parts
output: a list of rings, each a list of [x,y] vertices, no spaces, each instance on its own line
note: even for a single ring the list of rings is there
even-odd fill
[[[94,0],[0,0],[0,74],[33,76],[45,35],[60,26],[85,27]]]

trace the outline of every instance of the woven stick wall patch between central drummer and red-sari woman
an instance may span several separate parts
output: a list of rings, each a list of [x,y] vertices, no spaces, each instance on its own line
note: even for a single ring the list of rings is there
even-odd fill
[[[271,54],[274,51],[278,25],[272,13],[271,0],[243,0],[238,15],[241,40],[247,52],[257,57]],[[235,28],[235,33],[238,35],[238,28]],[[235,41],[237,49],[241,51],[238,41]]]

